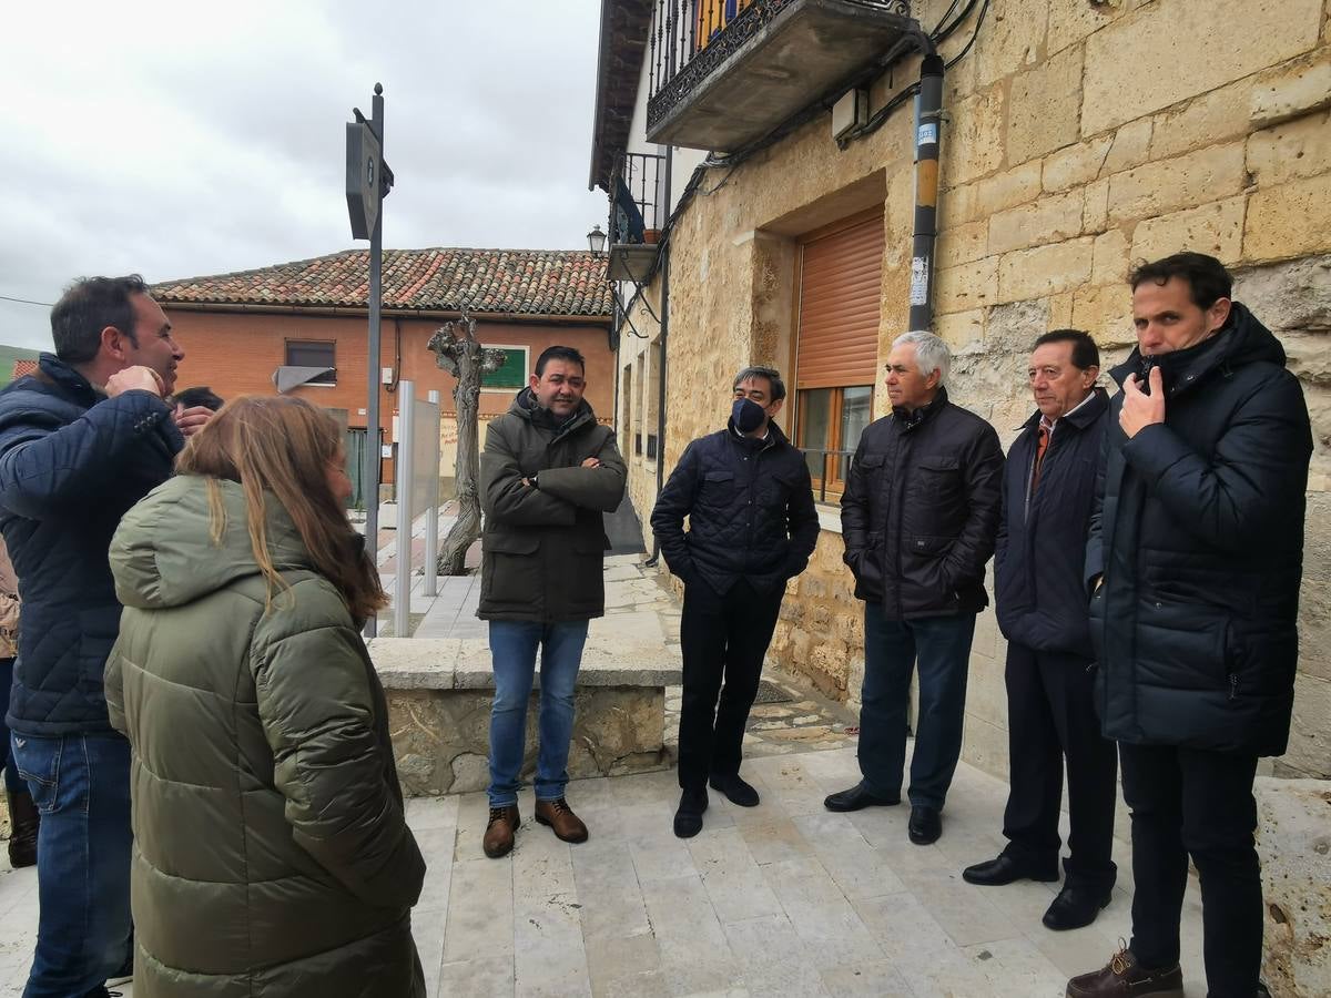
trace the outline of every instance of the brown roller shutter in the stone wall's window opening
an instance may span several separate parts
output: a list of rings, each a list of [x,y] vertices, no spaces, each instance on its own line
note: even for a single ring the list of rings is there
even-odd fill
[[[804,244],[796,387],[874,383],[884,242],[877,209]]]

